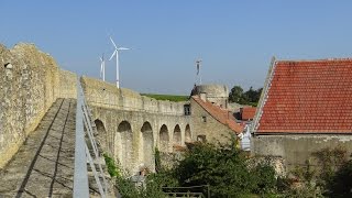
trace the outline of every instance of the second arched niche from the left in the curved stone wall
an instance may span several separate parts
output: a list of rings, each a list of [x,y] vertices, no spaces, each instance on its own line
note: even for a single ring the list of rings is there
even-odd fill
[[[130,122],[122,121],[118,127],[118,140],[116,141],[116,153],[122,167],[131,170],[133,167],[132,128]]]

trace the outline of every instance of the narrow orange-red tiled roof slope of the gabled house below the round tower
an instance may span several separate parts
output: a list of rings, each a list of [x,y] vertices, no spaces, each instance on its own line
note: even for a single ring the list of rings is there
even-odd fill
[[[211,114],[212,118],[218,120],[220,123],[229,127],[232,131],[234,131],[237,134],[241,133],[243,131],[243,128],[235,123],[235,119],[232,116],[232,113],[229,113],[229,111],[221,109],[218,106],[212,105],[209,101],[204,101],[200,98],[193,96],[191,97],[200,107],[202,107],[209,114]]]

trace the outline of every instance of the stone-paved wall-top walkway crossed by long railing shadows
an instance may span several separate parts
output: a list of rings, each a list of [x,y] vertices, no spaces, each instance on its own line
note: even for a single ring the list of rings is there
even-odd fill
[[[0,170],[2,197],[72,197],[76,101],[58,99]]]

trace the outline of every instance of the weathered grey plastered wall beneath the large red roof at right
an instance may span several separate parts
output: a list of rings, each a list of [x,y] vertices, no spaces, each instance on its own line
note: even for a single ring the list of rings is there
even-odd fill
[[[352,135],[334,134],[286,134],[256,135],[252,138],[252,148],[255,155],[280,156],[285,160],[287,170],[305,165],[311,160],[311,153],[326,147],[345,147],[350,156],[352,152]],[[315,163],[312,161],[312,163]]]

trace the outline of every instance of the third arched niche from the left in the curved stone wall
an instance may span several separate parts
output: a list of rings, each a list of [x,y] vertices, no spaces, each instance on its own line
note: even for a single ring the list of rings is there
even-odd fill
[[[154,138],[153,138],[153,129],[150,122],[144,122],[143,127],[141,128],[142,132],[142,140],[143,140],[143,163],[145,167],[151,170],[155,168],[155,161],[154,161]]]

